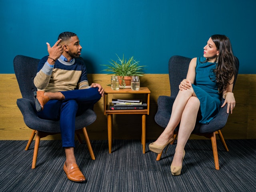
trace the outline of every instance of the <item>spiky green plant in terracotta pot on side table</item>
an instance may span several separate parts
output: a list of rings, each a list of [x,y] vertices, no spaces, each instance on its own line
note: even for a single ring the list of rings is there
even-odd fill
[[[111,72],[108,75],[116,75],[119,76],[119,84],[125,88],[125,86],[131,85],[131,77],[134,75],[143,76],[144,72],[142,71],[144,66],[138,65],[140,61],[136,61],[134,56],[130,57],[129,59],[118,57],[117,61],[111,60],[109,61],[109,65],[103,65],[107,67],[103,71]]]

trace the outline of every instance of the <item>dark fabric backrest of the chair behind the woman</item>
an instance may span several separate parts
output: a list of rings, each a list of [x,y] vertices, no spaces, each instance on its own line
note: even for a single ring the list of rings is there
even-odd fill
[[[169,60],[169,80],[170,80],[170,89],[171,97],[176,98],[179,92],[180,82],[186,78],[188,73],[188,67],[190,64],[191,58],[183,57],[179,55],[172,56]],[[236,83],[236,77],[239,69],[239,60],[235,57],[235,66],[236,74],[234,79],[234,85]]]

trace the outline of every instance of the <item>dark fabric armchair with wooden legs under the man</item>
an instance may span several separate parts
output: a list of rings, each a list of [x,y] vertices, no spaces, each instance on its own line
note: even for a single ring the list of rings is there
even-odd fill
[[[59,121],[40,119],[36,115],[36,109],[34,107],[34,91],[37,91],[37,89],[34,85],[34,77],[37,73],[39,61],[40,59],[35,59],[24,55],[17,55],[13,61],[14,72],[20,87],[20,92],[22,94],[22,98],[17,99],[17,105],[23,115],[25,124],[30,129],[33,129],[25,150],[28,150],[34,136],[36,135],[32,168],[36,168],[36,159],[40,138],[46,137],[47,135],[60,133]],[[95,160],[95,156],[86,131],[86,126],[92,124],[95,120],[96,114],[92,109],[88,109],[82,115],[76,117],[76,136],[78,137],[80,143],[82,143],[79,133],[83,132],[90,156],[93,160]]]

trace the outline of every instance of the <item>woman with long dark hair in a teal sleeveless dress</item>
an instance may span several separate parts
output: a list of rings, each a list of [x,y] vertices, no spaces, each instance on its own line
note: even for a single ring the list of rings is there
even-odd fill
[[[184,147],[196,122],[209,123],[216,117],[220,107],[226,104],[227,113],[232,113],[236,104],[232,93],[235,73],[232,46],[224,35],[211,36],[204,47],[204,57],[190,61],[187,77],[179,85],[180,91],[174,101],[170,121],[160,137],[149,145],[151,151],[161,153],[174,140],[174,129],[180,123],[170,167],[172,175],[181,172]],[[225,99],[222,106],[221,97]]]

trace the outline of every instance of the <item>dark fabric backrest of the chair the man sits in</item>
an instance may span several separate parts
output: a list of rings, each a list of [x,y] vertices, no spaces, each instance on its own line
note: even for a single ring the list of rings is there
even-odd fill
[[[13,66],[22,98],[34,101],[34,91],[37,91],[34,85],[34,77],[37,73],[37,66],[40,59],[17,55],[14,58]]]

